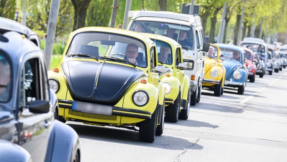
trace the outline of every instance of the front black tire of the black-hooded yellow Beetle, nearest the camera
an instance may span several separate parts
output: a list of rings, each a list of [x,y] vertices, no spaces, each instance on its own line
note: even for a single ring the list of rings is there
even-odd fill
[[[138,139],[142,142],[154,142],[157,129],[158,110],[152,114],[151,119],[141,121],[139,125]]]

